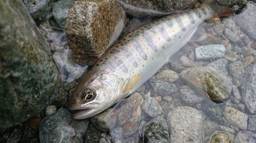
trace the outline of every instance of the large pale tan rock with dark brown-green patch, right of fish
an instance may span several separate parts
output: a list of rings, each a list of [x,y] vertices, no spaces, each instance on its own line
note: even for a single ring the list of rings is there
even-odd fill
[[[221,103],[230,98],[231,81],[214,68],[188,68],[181,72],[181,77],[191,88],[206,99]]]

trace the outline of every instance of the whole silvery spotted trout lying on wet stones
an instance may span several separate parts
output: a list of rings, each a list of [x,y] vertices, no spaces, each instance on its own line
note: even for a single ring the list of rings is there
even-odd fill
[[[215,14],[216,10],[222,10]],[[205,35],[198,26],[206,19],[233,13],[215,2],[171,14],[140,27],[100,56],[78,83],[67,102],[73,119],[97,115],[135,92],[187,42]]]

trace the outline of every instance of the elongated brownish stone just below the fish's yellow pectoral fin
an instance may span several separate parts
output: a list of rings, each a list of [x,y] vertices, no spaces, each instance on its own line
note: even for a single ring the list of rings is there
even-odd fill
[[[117,123],[123,125],[128,119],[133,117],[133,113],[136,108],[141,105],[143,98],[139,93],[134,93],[121,103],[121,106],[117,109]]]

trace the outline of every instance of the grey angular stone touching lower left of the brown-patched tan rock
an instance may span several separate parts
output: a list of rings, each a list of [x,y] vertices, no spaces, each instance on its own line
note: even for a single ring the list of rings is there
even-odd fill
[[[182,97],[183,101],[186,102],[188,105],[201,103],[204,100],[201,95],[191,89],[188,85],[182,86],[179,90],[179,94]]]

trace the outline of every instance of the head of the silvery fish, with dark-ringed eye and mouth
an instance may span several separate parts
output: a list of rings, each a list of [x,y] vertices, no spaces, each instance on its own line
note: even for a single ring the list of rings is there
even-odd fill
[[[68,109],[75,111],[73,119],[92,117],[115,104],[122,89],[119,81],[114,75],[102,74],[86,87],[78,86],[67,103]]]

